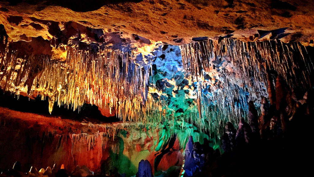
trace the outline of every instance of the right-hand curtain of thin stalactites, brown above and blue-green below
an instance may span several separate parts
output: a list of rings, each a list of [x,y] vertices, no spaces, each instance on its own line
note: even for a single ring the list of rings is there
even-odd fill
[[[248,101],[259,102],[261,97],[272,93],[269,92],[269,84],[275,81],[271,80],[268,71],[276,71],[291,89],[305,91],[313,85],[313,77],[307,77],[314,71],[313,54],[300,43],[285,44],[279,40],[245,43],[224,38],[218,43],[208,39],[184,44],[180,49],[187,79],[191,75],[192,81],[200,85],[195,92],[198,111],[201,112],[199,117],[207,118],[209,129],[218,132],[219,137],[223,133],[221,122],[237,125],[240,118],[247,118]],[[231,72],[239,73],[240,83],[230,82],[230,71],[224,68],[217,70],[222,62],[235,66]],[[208,84],[204,77],[210,73],[214,73],[219,82],[211,78],[207,79],[211,82]],[[209,94],[201,89],[208,89]]]

